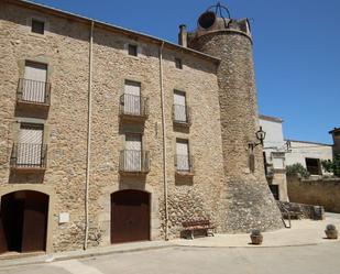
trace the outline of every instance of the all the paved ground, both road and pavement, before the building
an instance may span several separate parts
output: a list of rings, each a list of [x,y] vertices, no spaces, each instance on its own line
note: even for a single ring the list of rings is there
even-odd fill
[[[323,221],[294,221],[292,229],[265,232],[261,246],[249,244],[248,234],[219,234],[194,241],[114,244],[86,252],[15,260],[0,257],[0,274],[338,274],[340,241],[325,239],[327,223],[334,223],[340,228],[340,215],[327,213]],[[92,257],[79,259],[89,255]],[[66,260],[68,257],[74,260]],[[53,260],[64,261],[42,263]],[[31,265],[17,266],[28,263]]]

